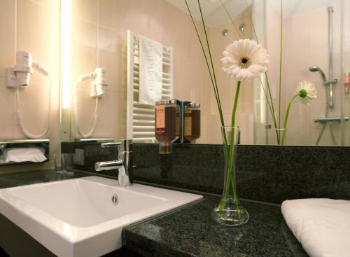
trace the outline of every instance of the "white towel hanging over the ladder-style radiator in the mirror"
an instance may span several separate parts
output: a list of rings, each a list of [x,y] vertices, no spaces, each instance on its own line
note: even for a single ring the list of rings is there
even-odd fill
[[[142,36],[139,37],[139,46],[139,103],[155,105],[162,99],[163,46]]]

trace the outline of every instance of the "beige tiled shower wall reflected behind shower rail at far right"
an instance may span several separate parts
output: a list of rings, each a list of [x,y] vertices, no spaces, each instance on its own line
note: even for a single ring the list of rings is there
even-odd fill
[[[333,76],[338,80],[334,87],[335,107],[330,109],[330,117],[341,116],[341,98],[344,86],[340,67],[340,5],[332,4],[333,13]],[[295,95],[297,83],[302,80],[316,85],[317,99],[310,106],[293,104],[290,110],[288,144],[315,144],[322,130],[322,125],[314,123],[314,118],[325,116],[325,86],[318,72],[310,72],[309,67],[318,66],[328,75],[328,6],[301,15],[286,18],[283,29],[285,49],[285,94],[286,101]],[[332,140],[330,127],[326,127],[320,141],[321,145],[340,145],[341,126],[332,123],[335,142]]]

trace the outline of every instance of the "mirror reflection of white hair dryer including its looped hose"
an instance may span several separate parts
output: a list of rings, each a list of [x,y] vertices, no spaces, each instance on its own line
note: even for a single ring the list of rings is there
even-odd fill
[[[96,100],[95,100],[94,119],[92,122],[92,127],[91,127],[91,130],[87,133],[83,133],[83,131],[81,130],[81,127],[80,127],[79,112],[78,112],[78,100],[76,97],[76,88],[74,88],[74,90],[73,90],[73,108],[74,108],[74,114],[76,116],[76,127],[78,129],[78,133],[83,138],[91,137],[91,135],[94,132],[94,129],[97,125],[99,98],[103,97],[104,87],[107,86],[106,70],[104,68],[96,68],[96,69],[94,69],[94,72],[80,75],[80,76],[78,76],[78,80],[76,81],[76,85],[78,85],[78,83],[81,83],[82,81],[85,81],[89,78],[92,78],[91,97],[94,97]]]

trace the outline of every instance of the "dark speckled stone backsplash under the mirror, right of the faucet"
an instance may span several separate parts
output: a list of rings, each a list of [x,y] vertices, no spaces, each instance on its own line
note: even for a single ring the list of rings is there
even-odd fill
[[[239,197],[281,204],[283,200],[330,197],[350,200],[349,146],[237,147]],[[156,144],[134,145],[134,179],[221,194],[223,146],[178,145],[160,155]]]

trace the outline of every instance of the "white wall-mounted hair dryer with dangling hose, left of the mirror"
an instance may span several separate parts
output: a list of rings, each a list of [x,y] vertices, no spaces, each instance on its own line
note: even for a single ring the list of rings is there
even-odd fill
[[[20,111],[20,88],[27,88],[30,81],[30,74],[33,74],[33,69],[43,74],[43,76],[48,77],[50,85],[48,86],[48,120],[46,123],[45,130],[41,134],[31,134],[25,129],[23,123],[22,112]],[[51,85],[52,81],[48,71],[41,67],[37,62],[31,58],[31,54],[25,51],[18,51],[16,53],[16,63],[15,66],[6,69],[7,75],[7,86],[8,88],[13,88],[16,90],[16,116],[17,124],[23,134],[29,139],[40,139],[41,137],[48,134],[50,130],[50,119],[51,119]]]

